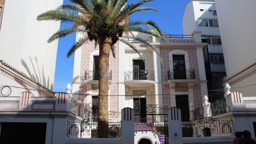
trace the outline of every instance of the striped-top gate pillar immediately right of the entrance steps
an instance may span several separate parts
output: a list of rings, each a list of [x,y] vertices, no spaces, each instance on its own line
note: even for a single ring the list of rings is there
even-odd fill
[[[169,143],[182,143],[181,112],[177,107],[168,110]]]

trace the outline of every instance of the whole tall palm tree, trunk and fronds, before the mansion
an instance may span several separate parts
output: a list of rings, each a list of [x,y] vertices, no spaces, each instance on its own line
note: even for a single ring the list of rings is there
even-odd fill
[[[156,52],[155,47],[145,39],[136,37],[132,31],[149,34],[156,38],[163,39],[161,30],[153,21],[129,22],[129,15],[146,10],[155,9],[151,7],[140,7],[154,0],[144,0],[133,4],[126,4],[128,0],[70,0],[74,4],[63,4],[55,10],[47,11],[38,15],[37,20],[54,20],[62,22],[73,22],[70,28],[64,28],[54,33],[48,40],[64,37],[72,33],[82,33],[84,37],[77,39],[70,48],[67,57],[73,54],[81,45],[94,41],[95,46],[99,45],[99,124],[98,137],[108,137],[108,71],[110,51],[115,58],[115,44],[121,41],[130,46],[138,54],[136,47],[127,41],[141,42]],[[144,25],[149,29],[142,28]],[[161,59],[162,60],[162,59]]]

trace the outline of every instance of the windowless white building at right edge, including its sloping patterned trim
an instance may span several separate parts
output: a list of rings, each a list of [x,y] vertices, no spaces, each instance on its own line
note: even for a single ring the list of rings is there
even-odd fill
[[[244,97],[255,97],[256,1],[216,0],[215,3],[227,70],[225,83],[242,92]]]

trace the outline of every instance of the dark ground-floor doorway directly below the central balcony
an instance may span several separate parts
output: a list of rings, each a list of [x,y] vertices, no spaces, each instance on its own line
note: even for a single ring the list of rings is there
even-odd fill
[[[133,98],[135,122],[147,122],[146,98]]]

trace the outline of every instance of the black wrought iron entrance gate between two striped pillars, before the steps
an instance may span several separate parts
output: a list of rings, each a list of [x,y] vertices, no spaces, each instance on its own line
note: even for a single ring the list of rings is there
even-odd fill
[[[146,109],[146,113],[141,113]],[[157,134],[161,144],[169,143],[168,133],[168,108],[160,105],[145,105],[140,107],[134,106],[134,135],[139,131],[148,132],[151,131]]]

